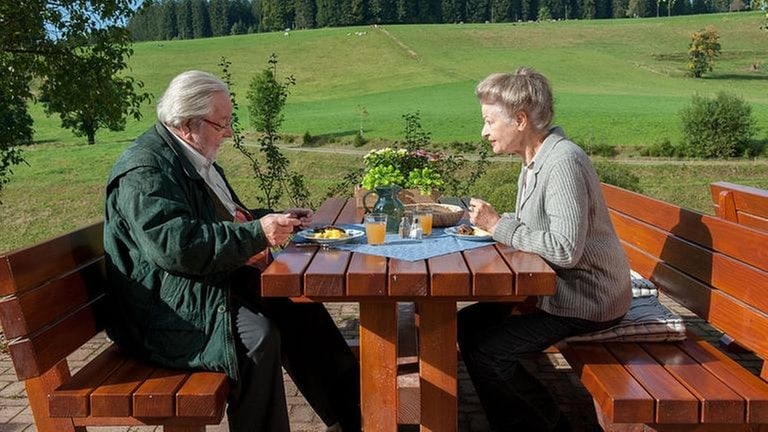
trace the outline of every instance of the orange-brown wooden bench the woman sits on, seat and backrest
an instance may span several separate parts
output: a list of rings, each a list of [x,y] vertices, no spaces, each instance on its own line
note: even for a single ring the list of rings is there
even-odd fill
[[[768,233],[604,185],[631,267],[768,356]],[[682,342],[560,344],[605,430],[768,430],[768,377],[689,332]],[[763,426],[759,426],[763,425]]]

